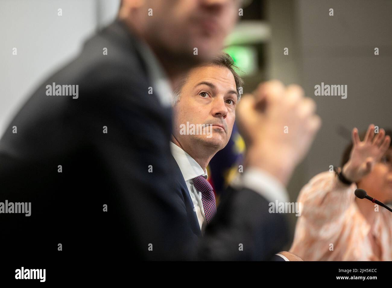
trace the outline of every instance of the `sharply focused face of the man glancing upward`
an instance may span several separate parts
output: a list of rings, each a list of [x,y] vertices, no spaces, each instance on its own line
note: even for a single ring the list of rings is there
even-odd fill
[[[174,137],[185,149],[190,145],[223,149],[233,129],[237,101],[236,82],[229,69],[215,65],[192,69],[173,108]],[[185,126],[198,124],[205,124],[198,135],[191,129],[184,134]]]

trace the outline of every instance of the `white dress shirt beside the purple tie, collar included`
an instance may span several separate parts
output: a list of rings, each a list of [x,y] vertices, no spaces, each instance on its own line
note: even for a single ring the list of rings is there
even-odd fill
[[[201,192],[198,191],[194,185],[192,179],[203,175],[207,179],[207,170],[203,170],[200,165],[184,150],[178,147],[173,142],[170,142],[171,153],[176,160],[178,167],[180,167],[182,176],[187,184],[189,195],[191,195],[193,210],[196,212],[197,219],[199,221],[200,230],[203,230],[203,224],[205,223],[205,214],[203,209],[203,203],[201,202]]]

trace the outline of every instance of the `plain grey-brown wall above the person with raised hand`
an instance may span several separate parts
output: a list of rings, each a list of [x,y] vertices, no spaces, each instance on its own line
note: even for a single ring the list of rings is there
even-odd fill
[[[318,105],[323,125],[289,185],[301,187],[329,165],[339,165],[348,139],[339,127],[392,128],[392,1],[270,0],[270,78],[299,83]],[[334,16],[329,16],[329,9]],[[283,48],[289,47],[289,55]],[[379,55],[374,55],[374,48]],[[347,85],[347,99],[314,96],[314,85]],[[296,217],[292,215],[293,224]]]

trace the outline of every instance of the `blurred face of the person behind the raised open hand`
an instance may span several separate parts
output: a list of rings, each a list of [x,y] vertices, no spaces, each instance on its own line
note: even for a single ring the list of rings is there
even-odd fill
[[[382,160],[376,163],[372,172],[361,179],[358,187],[377,200],[392,200],[392,148],[389,148]]]

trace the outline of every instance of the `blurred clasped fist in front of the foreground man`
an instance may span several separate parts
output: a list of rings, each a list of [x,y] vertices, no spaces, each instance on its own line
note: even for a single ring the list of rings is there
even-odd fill
[[[309,150],[321,119],[298,85],[273,80],[241,99],[236,119],[245,139],[246,167],[258,167],[287,184]]]

